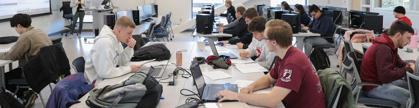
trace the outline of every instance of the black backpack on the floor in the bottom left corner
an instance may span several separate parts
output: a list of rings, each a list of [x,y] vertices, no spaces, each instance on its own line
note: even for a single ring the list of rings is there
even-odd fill
[[[25,108],[18,99],[16,99],[9,92],[5,92],[3,88],[2,93],[0,93],[0,108]]]

